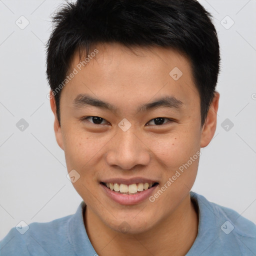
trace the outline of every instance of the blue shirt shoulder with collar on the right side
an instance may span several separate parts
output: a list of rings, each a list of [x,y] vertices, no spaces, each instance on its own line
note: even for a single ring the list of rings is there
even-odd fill
[[[210,251],[210,255],[217,255],[215,252],[233,256],[256,254],[256,225],[252,221],[202,195],[191,192],[191,198],[199,211],[197,241],[206,241],[205,248],[209,246],[206,251]]]

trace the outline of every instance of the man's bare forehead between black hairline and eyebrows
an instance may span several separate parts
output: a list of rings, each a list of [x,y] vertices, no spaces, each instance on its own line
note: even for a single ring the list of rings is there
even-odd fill
[[[68,72],[74,70],[76,74],[63,88],[72,99],[90,93],[123,106],[166,95],[185,103],[199,100],[189,60],[170,48],[98,44],[88,56],[79,58],[75,52]]]

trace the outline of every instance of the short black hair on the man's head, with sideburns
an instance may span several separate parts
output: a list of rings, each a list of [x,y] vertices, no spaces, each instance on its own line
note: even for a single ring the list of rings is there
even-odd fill
[[[219,44],[212,16],[196,0],[77,0],[52,17],[46,75],[52,91],[67,75],[76,50],[87,56],[92,45],[176,49],[190,61],[200,96],[201,126],[207,117],[219,73]],[[59,87],[58,87],[59,86]],[[60,123],[60,92],[54,94]]]

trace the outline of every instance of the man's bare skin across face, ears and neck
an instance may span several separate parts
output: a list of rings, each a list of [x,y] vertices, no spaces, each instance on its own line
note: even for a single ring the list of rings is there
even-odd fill
[[[197,235],[198,214],[189,191],[199,157],[154,202],[145,199],[121,205],[100,189],[99,182],[139,176],[157,180],[157,191],[212,139],[219,93],[215,92],[201,127],[199,93],[186,57],[162,47],[133,47],[131,51],[111,43],[96,48],[96,56],[61,91],[60,125],[54,97],[50,100],[67,170],[80,174],[73,186],[86,203],[88,237],[99,256],[185,255]],[[70,70],[79,62],[76,52]],[[174,67],[183,73],[176,81],[169,75]],[[116,112],[90,105],[74,107],[72,101],[81,93],[109,102]],[[166,95],[182,101],[182,107],[137,111],[140,104]],[[104,120],[102,124],[81,120],[86,116]],[[156,125],[153,118],[157,117],[167,119]],[[125,132],[118,127],[123,118],[131,123]],[[120,228],[124,221],[127,232]]]

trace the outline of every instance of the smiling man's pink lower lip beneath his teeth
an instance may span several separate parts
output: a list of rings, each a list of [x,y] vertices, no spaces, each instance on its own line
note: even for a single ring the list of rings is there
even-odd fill
[[[103,191],[114,201],[123,205],[132,205],[140,203],[146,198],[148,198],[153,193],[154,189],[158,186],[158,184],[155,186],[151,186],[150,188],[140,191],[136,194],[121,194],[107,188],[105,185],[101,183],[100,186],[102,187]]]

